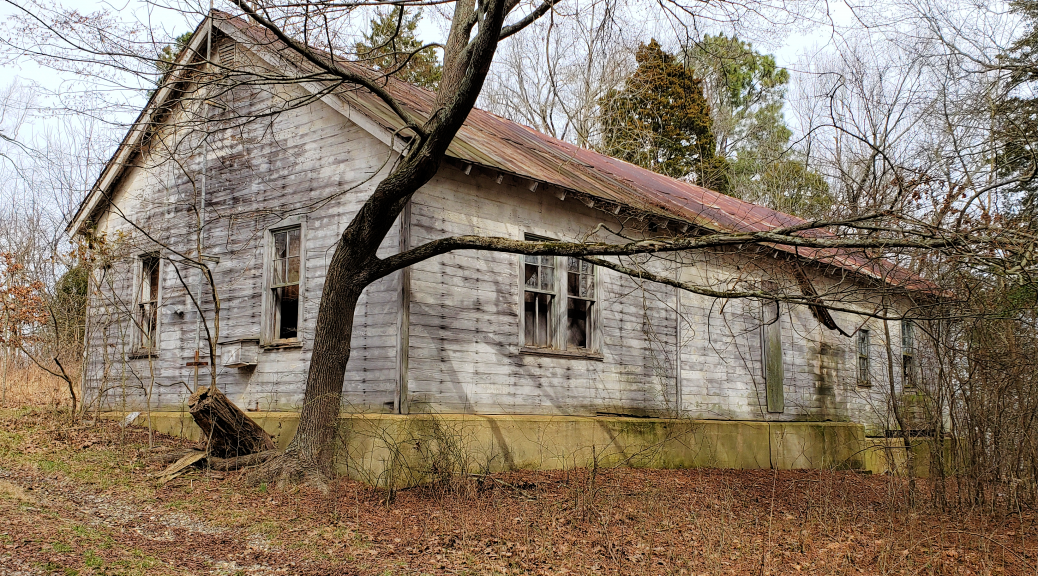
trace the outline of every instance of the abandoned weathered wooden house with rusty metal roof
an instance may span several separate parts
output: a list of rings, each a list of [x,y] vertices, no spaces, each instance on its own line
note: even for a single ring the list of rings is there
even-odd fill
[[[235,79],[198,88],[200,76],[175,73],[69,227],[99,255],[83,393],[100,409],[149,411],[183,430],[192,389],[215,374],[231,401],[291,436],[284,422],[302,400],[331,249],[407,141],[371,93],[257,82],[258,71],[301,78],[308,68],[242,20],[214,12],[181,61],[206,54]],[[424,89],[388,89],[419,116],[432,105]],[[382,252],[457,235],[617,242],[800,223],[473,110]],[[199,253],[211,281],[188,262]],[[854,310],[902,309],[918,278],[810,249],[625,262],[714,291],[807,284],[840,305],[716,298],[569,257],[454,252],[365,291],[344,417],[438,414],[489,427],[491,443],[553,434],[563,451],[603,437],[580,427],[609,435],[680,420],[714,442],[714,460],[690,461],[784,467],[821,465],[807,444],[893,428],[887,374],[897,388],[911,384],[911,324]],[[510,465],[530,465],[519,447],[502,450]],[[541,458],[532,465],[547,465]]]

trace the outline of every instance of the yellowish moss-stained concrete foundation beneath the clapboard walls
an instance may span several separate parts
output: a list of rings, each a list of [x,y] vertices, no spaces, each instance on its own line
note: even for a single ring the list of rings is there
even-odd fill
[[[279,447],[299,415],[250,416]],[[108,417],[122,418],[110,412]],[[153,412],[155,430],[197,439],[186,412]],[[379,486],[408,486],[460,472],[631,466],[651,468],[858,469],[890,472],[903,455],[850,422],[754,422],[666,418],[392,415],[342,416],[337,467]],[[146,426],[146,416],[135,423]]]

